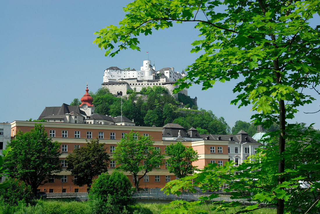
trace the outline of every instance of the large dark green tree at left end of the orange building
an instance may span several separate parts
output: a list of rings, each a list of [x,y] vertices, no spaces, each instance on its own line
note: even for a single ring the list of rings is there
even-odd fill
[[[48,177],[60,178],[60,143],[48,138],[41,123],[23,133],[19,131],[15,139],[7,144],[12,147],[12,154],[6,159],[12,177],[18,178],[31,186],[36,195],[37,188],[48,182]]]

